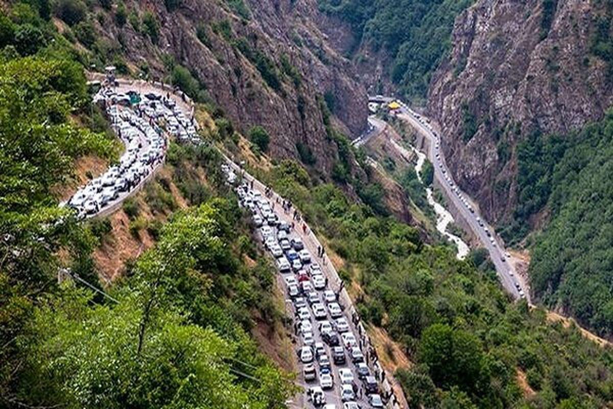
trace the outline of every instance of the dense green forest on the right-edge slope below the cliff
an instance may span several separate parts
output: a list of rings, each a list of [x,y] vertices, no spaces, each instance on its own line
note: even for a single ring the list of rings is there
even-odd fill
[[[535,295],[599,334],[613,335],[613,112],[578,132],[534,134],[518,147],[516,223],[546,210],[533,247]]]

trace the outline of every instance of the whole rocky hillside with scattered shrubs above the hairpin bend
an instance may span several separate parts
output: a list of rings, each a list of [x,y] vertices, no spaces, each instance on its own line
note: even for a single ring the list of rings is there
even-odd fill
[[[327,45],[308,1],[118,1],[75,4],[56,12],[60,31],[101,71],[168,78],[199,102],[218,105],[247,134],[264,126],[273,155],[312,157],[330,174],[337,147],[321,105],[348,137],[366,127],[366,93],[351,64]]]

